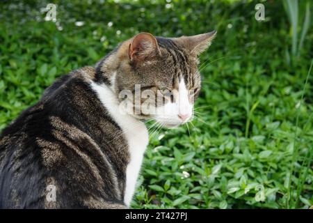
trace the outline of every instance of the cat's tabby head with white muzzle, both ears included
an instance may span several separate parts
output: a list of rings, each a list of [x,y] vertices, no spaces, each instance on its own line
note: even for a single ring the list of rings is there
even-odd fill
[[[215,35],[161,38],[139,33],[106,59],[102,73],[111,72],[111,89],[131,115],[166,127],[181,125],[191,120],[201,87],[198,56]]]

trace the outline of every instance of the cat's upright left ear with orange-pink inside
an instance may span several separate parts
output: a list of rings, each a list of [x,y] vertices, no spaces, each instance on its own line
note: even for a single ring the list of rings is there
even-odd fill
[[[129,44],[128,56],[131,61],[140,61],[149,56],[161,55],[157,39],[150,33],[137,34]]]

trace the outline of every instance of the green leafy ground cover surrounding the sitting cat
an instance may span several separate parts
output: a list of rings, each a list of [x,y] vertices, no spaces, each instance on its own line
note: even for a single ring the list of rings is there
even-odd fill
[[[0,3],[0,130],[54,79],[95,64],[139,31],[217,29],[201,57],[195,118],[175,130],[152,127],[132,207],[313,205],[313,33],[289,65],[292,36],[280,1],[264,1],[265,22],[255,21],[258,1],[54,2],[56,23],[40,13],[48,1]]]

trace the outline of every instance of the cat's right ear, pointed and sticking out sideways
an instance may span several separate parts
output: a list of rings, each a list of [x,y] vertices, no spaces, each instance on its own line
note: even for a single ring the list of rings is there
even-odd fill
[[[176,40],[191,54],[198,56],[211,45],[216,33],[216,31],[211,31],[209,33],[203,33],[195,36],[182,36]]]

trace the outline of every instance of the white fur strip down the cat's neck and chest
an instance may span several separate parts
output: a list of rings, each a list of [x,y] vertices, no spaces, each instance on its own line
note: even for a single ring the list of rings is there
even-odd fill
[[[147,128],[141,121],[138,121],[138,119],[133,116],[120,112],[118,98],[116,98],[112,89],[105,84],[99,85],[95,82],[91,82],[91,86],[99,96],[99,100],[104,107],[109,111],[111,117],[118,123],[120,128],[122,128],[127,139],[130,162],[126,170],[124,202],[129,206],[134,195],[136,181],[143,161],[143,154],[149,142]]]

